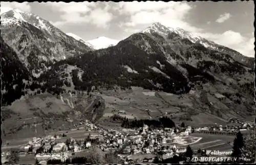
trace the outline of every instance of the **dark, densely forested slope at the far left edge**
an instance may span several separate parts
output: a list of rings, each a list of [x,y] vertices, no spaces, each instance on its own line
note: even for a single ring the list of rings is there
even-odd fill
[[[25,95],[29,87],[31,74],[19,61],[15,51],[1,36],[1,93],[2,103],[11,104],[14,100]]]

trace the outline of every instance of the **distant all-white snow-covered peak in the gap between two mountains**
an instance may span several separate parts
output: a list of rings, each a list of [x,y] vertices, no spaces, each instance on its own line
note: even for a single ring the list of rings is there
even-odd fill
[[[118,43],[118,40],[110,39],[107,37],[97,37],[87,42],[93,45],[94,49],[98,50],[98,49],[105,49],[110,46],[114,46]]]

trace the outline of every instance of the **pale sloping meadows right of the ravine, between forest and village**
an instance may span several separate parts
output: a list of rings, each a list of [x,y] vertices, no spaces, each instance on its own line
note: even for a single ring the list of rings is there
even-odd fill
[[[206,86],[212,93],[217,92],[211,86]],[[215,89],[215,90],[214,90]],[[176,124],[184,122],[186,125],[204,127],[212,126],[215,123],[219,125],[227,125],[227,120],[210,111],[206,111],[202,101],[200,100],[200,91],[193,91],[185,95],[174,95],[172,93],[150,91],[140,87],[132,87],[121,93],[111,91],[98,94],[105,101],[106,108],[104,110],[102,120],[116,114],[125,116],[128,119],[158,119],[160,116],[167,115],[173,119]],[[214,96],[209,95],[216,104],[223,104]],[[224,105],[223,105],[224,106]],[[124,113],[118,113],[122,111]],[[234,115],[230,111],[230,115]],[[191,117],[191,121],[181,116]],[[99,123],[101,125],[103,121]],[[110,123],[111,121],[109,121]],[[111,124],[108,123],[108,126]],[[117,127],[116,124],[113,124]]]

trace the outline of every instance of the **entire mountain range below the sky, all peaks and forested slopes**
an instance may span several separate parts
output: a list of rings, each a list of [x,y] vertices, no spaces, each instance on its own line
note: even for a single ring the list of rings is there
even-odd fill
[[[15,81],[3,76],[4,90],[10,92],[9,98],[4,96],[5,104],[24,94],[26,80],[28,88],[57,94],[72,86],[89,90],[117,85],[179,95],[201,90],[204,84],[213,88],[229,85],[236,89],[230,94],[234,103],[230,107],[239,104],[233,95],[243,93],[247,99],[243,106],[251,109],[254,58],[179,28],[156,22],[121,41],[106,37],[84,41],[32,13],[15,9],[1,15],[1,37],[5,44],[1,56],[14,59],[6,60],[5,66],[20,68]],[[3,73],[8,75],[8,69]],[[14,93],[17,97],[10,98]]]

